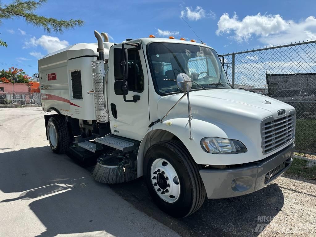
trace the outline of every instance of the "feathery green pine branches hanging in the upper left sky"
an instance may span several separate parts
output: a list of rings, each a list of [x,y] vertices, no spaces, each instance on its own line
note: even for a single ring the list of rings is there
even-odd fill
[[[64,29],[72,29],[83,25],[84,22],[80,19],[58,20],[34,13],[36,9],[40,8],[46,2],[47,0],[15,0],[12,3],[3,4],[0,0],[0,24],[2,24],[3,19],[20,18],[24,19],[27,23],[33,24],[34,27],[44,28],[48,33],[51,31],[62,33]],[[7,46],[7,43],[0,39],[0,46]]]

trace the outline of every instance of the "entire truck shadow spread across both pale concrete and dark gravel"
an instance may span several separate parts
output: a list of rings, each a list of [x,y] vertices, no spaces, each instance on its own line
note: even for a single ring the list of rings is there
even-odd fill
[[[166,236],[155,232],[155,225],[144,223],[113,190],[182,236],[258,236],[257,225],[263,223],[258,222],[258,216],[276,216],[284,203],[279,186],[270,184],[246,196],[205,200],[193,215],[175,219],[155,206],[143,178],[99,184],[91,176],[93,166],[82,165],[52,153],[49,146],[0,153],[0,190],[4,196],[20,193],[7,195],[0,200],[0,207],[28,202],[25,205],[46,227],[39,236],[100,232],[120,237],[139,236],[144,231],[146,236]]]

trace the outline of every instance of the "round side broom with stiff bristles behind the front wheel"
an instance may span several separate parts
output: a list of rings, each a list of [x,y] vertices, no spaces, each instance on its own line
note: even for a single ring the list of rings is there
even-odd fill
[[[96,163],[93,169],[93,177],[99,183],[119,184],[136,179],[136,172],[118,165],[106,165]]]

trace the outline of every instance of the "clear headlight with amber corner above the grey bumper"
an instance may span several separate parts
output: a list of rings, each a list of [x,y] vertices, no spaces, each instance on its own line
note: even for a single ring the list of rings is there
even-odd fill
[[[219,137],[202,138],[201,147],[204,151],[213,154],[236,154],[247,152],[247,148],[240,141]]]

